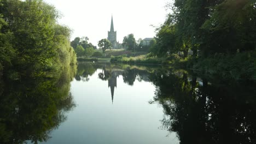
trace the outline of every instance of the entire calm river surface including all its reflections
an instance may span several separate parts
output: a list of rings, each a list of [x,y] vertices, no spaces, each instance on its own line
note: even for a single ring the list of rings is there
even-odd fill
[[[0,81],[0,143],[256,143],[255,95],[254,81],[80,63]]]

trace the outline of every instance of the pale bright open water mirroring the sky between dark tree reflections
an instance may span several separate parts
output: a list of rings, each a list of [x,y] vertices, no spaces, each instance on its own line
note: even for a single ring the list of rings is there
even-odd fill
[[[125,70],[110,65],[104,68],[109,77],[102,80],[102,69],[71,82],[77,106],[45,143],[179,143],[176,133],[161,128],[162,107],[149,104],[155,92],[152,82],[136,76],[126,83],[121,75]]]

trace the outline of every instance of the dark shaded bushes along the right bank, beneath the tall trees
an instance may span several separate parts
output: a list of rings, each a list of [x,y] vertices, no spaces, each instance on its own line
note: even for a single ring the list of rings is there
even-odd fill
[[[192,68],[201,73],[223,77],[225,80],[256,80],[255,58],[255,51],[237,53],[235,56],[216,54],[212,57],[196,59],[197,62]]]

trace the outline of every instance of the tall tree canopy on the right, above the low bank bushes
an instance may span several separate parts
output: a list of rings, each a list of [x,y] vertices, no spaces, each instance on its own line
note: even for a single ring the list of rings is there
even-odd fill
[[[167,5],[173,11],[156,33],[155,55],[182,51],[187,57],[208,57],[255,50],[255,0],[176,0]]]

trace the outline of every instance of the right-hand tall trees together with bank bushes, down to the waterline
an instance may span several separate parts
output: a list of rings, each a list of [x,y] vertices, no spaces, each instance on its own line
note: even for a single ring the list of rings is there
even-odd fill
[[[182,53],[184,61],[177,61],[182,67],[194,65],[195,69],[223,77],[254,79],[255,0],[175,0],[167,8],[172,13],[156,29],[150,52],[159,57]],[[187,61],[188,50],[193,55]],[[248,52],[251,58],[238,58]]]

